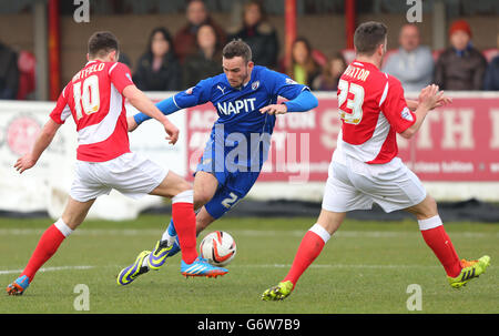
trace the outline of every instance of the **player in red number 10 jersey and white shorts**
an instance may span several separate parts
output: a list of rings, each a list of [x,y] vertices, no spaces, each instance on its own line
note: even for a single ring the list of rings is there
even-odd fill
[[[133,84],[129,68],[116,62],[118,58],[118,40],[112,33],[95,32],[90,38],[89,62],[62,90],[32,151],[14,165],[20,173],[31,169],[64,121],[69,116],[74,119],[79,146],[77,174],[68,204],[61,218],[42,234],[24,271],[7,287],[10,295],[24,293],[37,271],[83,222],[96,197],[109,194],[112,189],[133,198],[145,194],[172,198],[172,216],[176,218],[175,227],[183,244],[183,275],[217,276],[227,272],[210,265],[197,255],[191,184],[130,151],[125,99],[139,111],[162,123],[171,144],[177,141],[179,130]],[[179,224],[182,233],[179,232]],[[125,285],[141,271],[149,269],[144,265],[146,255],[149,251],[142,253],[132,266],[123,269],[118,282]]]

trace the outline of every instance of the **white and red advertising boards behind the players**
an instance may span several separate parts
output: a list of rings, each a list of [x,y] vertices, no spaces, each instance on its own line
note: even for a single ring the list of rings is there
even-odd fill
[[[159,101],[172,93],[147,93]],[[400,139],[400,157],[422,180],[437,201],[499,201],[499,93],[448,92],[449,108],[432,112],[417,138]],[[269,159],[248,197],[259,201],[319,202],[339,122],[336,96],[318,93],[319,105],[307,113],[279,115]],[[72,119],[32,170],[19,175],[13,164],[28,152],[53,109],[52,102],[0,102],[0,211],[62,213],[75,162],[77,132]],[[136,111],[128,106],[128,113]],[[205,104],[171,115],[181,130],[175,146],[164,141],[161,125],[145,122],[130,133],[132,151],[192,180],[216,113]],[[136,202],[118,192],[98,200],[90,217],[134,218],[161,205],[146,196]]]

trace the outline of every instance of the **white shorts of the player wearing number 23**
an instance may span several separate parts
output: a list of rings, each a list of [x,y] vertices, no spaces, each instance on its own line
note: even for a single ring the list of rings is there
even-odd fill
[[[389,213],[417,205],[426,197],[421,181],[398,157],[386,164],[342,161],[334,160],[329,165],[324,210],[368,210],[377,203]]]

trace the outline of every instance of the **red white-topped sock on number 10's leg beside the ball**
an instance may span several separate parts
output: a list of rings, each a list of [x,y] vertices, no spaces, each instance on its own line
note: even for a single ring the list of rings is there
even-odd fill
[[[186,191],[172,198],[172,218],[182,251],[182,259],[192,264],[197,257],[196,215],[193,205],[193,191]]]

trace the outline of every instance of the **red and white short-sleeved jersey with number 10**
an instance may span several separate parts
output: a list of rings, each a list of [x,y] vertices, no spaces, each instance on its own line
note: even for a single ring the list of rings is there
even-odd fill
[[[90,61],[62,90],[50,118],[62,124],[73,116],[78,160],[103,162],[130,152],[122,92],[131,84],[125,64]]]

